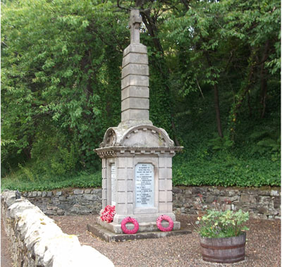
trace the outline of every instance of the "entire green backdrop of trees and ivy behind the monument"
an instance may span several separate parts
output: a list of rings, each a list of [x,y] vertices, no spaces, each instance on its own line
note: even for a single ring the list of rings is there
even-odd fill
[[[280,1],[142,2],[150,119],[185,147],[173,185],[280,185]],[[120,122],[128,13],[114,0],[1,7],[2,187],[97,185],[78,173],[101,168],[93,149]]]

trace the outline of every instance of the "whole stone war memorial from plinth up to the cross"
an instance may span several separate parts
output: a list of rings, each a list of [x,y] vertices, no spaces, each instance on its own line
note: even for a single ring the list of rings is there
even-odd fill
[[[130,45],[123,51],[121,123],[106,130],[95,149],[102,158],[102,206],[116,206],[112,223],[97,223],[121,234],[121,221],[130,216],[138,232],[159,231],[157,218],[170,216],[180,229],[172,199],[172,157],[175,147],[164,129],[149,120],[149,66],[147,47],[140,44],[139,10],[130,12]]]

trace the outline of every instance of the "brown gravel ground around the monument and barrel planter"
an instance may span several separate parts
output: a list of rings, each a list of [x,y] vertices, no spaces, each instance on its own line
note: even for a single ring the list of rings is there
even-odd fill
[[[115,266],[231,266],[202,261],[199,239],[192,234],[127,242],[104,242],[87,232],[96,216],[50,216],[69,235],[78,235],[81,244],[106,255]],[[193,230],[196,216],[177,216],[181,228]],[[247,223],[246,259],[234,266],[281,266],[281,221],[250,220]]]

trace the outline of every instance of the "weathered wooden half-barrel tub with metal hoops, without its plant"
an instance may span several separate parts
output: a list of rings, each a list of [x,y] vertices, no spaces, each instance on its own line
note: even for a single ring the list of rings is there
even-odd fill
[[[200,237],[202,259],[216,263],[234,263],[245,259],[246,233],[238,237]]]

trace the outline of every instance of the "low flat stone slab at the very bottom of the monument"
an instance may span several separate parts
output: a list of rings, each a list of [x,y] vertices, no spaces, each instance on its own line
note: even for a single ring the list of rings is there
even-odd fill
[[[87,225],[87,230],[91,232],[96,237],[105,240],[106,242],[123,242],[128,240],[142,240],[148,238],[159,238],[159,237],[171,237],[174,235],[188,235],[191,233],[190,230],[173,230],[171,232],[161,232],[153,231],[153,232],[137,232],[134,235],[126,235],[126,234],[117,234],[111,232],[110,230],[102,227],[97,223],[93,225]]]

